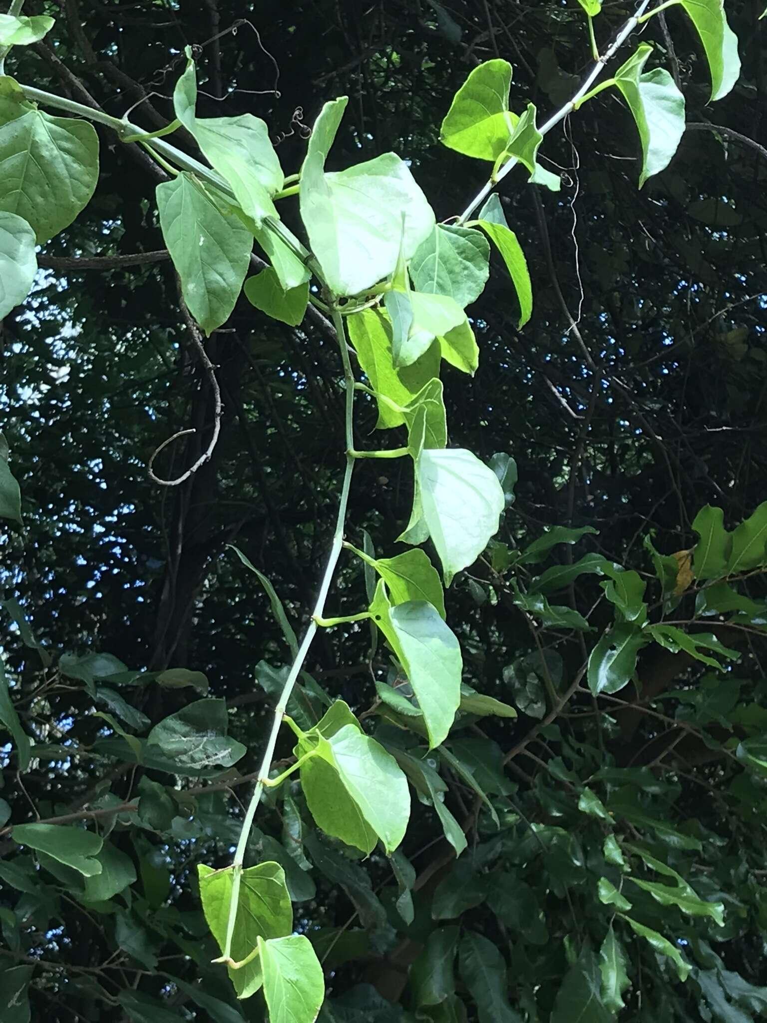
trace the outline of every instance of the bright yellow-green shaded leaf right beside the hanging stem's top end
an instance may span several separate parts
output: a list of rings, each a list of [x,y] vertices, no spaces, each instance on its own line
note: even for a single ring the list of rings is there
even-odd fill
[[[412,365],[398,367],[392,353],[392,323],[379,309],[363,309],[349,316],[347,329],[360,366],[378,396],[376,429],[402,426],[406,421],[404,407],[440,374],[439,346],[432,345]]]

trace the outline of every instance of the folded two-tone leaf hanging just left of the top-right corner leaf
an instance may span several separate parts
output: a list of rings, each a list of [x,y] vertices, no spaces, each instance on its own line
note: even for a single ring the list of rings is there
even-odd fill
[[[668,167],[684,134],[684,96],[663,68],[642,74],[652,47],[642,43],[616,72],[615,82],[634,116],[642,143],[641,188]]]

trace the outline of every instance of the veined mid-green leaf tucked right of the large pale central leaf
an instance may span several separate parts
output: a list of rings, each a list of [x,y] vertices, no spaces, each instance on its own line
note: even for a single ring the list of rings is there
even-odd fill
[[[472,228],[437,224],[410,260],[416,292],[448,295],[464,309],[487,283],[490,246]]]

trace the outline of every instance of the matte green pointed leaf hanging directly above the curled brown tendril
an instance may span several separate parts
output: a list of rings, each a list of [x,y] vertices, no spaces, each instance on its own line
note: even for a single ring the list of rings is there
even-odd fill
[[[253,235],[186,172],[157,185],[163,237],[189,312],[206,333],[225,323],[247,273]]]

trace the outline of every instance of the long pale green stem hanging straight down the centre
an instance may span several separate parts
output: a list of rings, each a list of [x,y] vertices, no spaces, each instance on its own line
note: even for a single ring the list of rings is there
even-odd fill
[[[282,718],[285,714],[285,709],[287,708],[287,701],[292,693],[294,685],[301,674],[301,670],[304,667],[304,661],[306,660],[307,654],[309,653],[309,648],[312,646],[312,640],[317,632],[317,622],[322,621],[322,612],[325,610],[325,601],[327,599],[327,594],[330,590],[330,583],[332,581],[333,573],[335,572],[335,566],[339,564],[339,557],[341,554],[344,545],[344,529],[346,526],[347,519],[347,508],[349,506],[349,493],[352,487],[352,473],[354,472],[354,455],[351,453],[354,451],[354,373],[352,371],[352,363],[349,358],[349,347],[347,345],[346,329],[344,326],[344,318],[341,312],[335,308],[335,303],[333,303],[332,309],[333,326],[335,327],[335,335],[339,341],[339,348],[341,350],[341,358],[344,364],[344,384],[346,388],[346,446],[347,446],[347,463],[346,470],[344,472],[344,483],[341,491],[341,501],[339,502],[339,511],[335,517],[335,530],[333,532],[332,543],[330,544],[330,553],[328,554],[327,565],[325,566],[325,572],[322,576],[322,582],[320,584],[319,593],[317,594],[317,601],[312,612],[312,620],[307,627],[306,633],[304,634],[304,639],[302,640],[299,652],[296,655],[296,660],[292,663],[290,672],[285,681],[284,688],[279,698],[277,706],[274,708],[274,720],[272,722],[272,729],[269,733],[269,740],[266,744],[266,749],[264,750],[264,756],[261,760],[261,767],[259,769],[259,780],[256,784],[253,796],[251,797],[251,802],[247,805],[247,810],[245,811],[244,818],[242,820],[242,830],[239,834],[239,841],[237,842],[237,848],[234,853],[234,859],[232,860],[232,892],[229,900],[229,918],[226,926],[226,943],[224,946],[224,952],[220,960],[216,962],[225,963],[231,960],[231,945],[232,938],[234,936],[234,925],[237,918],[237,904],[239,899],[239,886],[240,879],[242,876],[242,863],[245,857],[245,849],[247,847],[247,839],[251,835],[251,829],[253,827],[254,817],[256,816],[256,810],[261,801],[261,794],[264,791],[264,785],[268,784],[269,769],[271,768],[272,760],[274,758],[274,749],[277,745],[277,736],[279,733],[280,725],[282,724]]]

